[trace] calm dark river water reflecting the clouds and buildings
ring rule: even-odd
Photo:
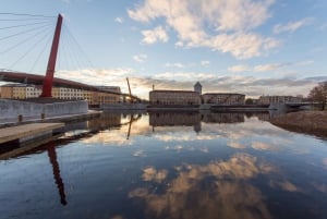
[[[107,113],[0,160],[0,218],[327,218],[327,142],[269,114]]]

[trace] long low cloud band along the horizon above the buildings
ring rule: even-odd
[[[135,76],[131,68],[107,70],[58,71],[56,77],[74,78],[81,83],[93,85],[117,85],[123,93],[129,93],[125,77],[130,78],[132,93],[148,98],[148,92],[155,85],[156,89],[193,90],[195,82],[201,82],[203,93],[240,93],[250,97],[265,95],[303,95],[319,82],[327,81],[326,76],[296,77],[254,77],[244,75],[218,75],[208,72],[167,71],[154,72],[152,76]]]

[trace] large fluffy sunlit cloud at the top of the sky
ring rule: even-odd
[[[252,32],[270,17],[272,3],[274,0],[145,0],[128,13],[137,22],[164,21],[175,31],[178,47],[206,47],[229,52],[238,59],[249,59],[280,45],[274,38]],[[149,35],[143,42],[157,41],[150,31],[142,34]]]

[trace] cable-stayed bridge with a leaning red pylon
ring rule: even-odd
[[[0,13],[0,81],[43,85],[41,97],[51,97],[52,86],[58,86],[113,94],[141,100],[131,94],[101,89],[94,85],[56,77],[56,64],[58,62],[61,68],[65,65],[74,69],[81,69],[83,62],[86,62],[88,65],[92,65],[92,63],[83,52],[75,37],[65,25],[62,25],[63,16],[61,14],[57,17],[55,34],[52,36],[53,21],[55,16]],[[66,40],[61,40],[62,33]],[[41,44],[51,41],[51,38],[52,45],[49,51],[50,56],[47,60],[46,50],[47,48],[49,49],[49,44]],[[59,47],[59,45],[61,46]],[[39,50],[38,53],[34,52],[37,48]],[[75,51],[80,53],[76,54]],[[35,71],[37,66],[44,65],[45,62],[47,62],[45,75],[27,73]],[[28,64],[31,64],[29,70],[13,70],[17,65],[27,69]]]

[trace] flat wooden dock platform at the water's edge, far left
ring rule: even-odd
[[[64,123],[33,123],[0,129],[0,144],[50,132],[64,126]]]

